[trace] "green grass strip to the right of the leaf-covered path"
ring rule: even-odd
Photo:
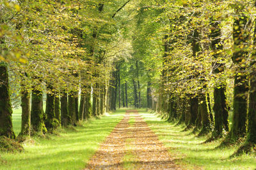
[[[170,148],[170,152],[177,164],[186,166],[186,169],[255,169],[255,155],[241,155],[241,157],[229,158],[238,146],[215,149],[221,141],[204,143],[205,137],[195,137],[195,134],[182,132],[183,126],[175,126],[173,123],[157,118],[157,114],[150,114],[140,110],[141,115],[147,121],[149,127],[159,135],[164,145]],[[208,136],[209,137],[209,136]]]

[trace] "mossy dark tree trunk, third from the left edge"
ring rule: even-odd
[[[32,134],[43,133],[44,128],[44,110],[43,110],[43,95],[42,91],[33,89],[31,102],[31,128]]]

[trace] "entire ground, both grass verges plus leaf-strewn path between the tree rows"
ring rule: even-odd
[[[21,153],[0,152],[0,169],[255,169],[256,155],[229,158],[239,146],[216,148],[184,125],[145,109],[118,109],[77,127],[59,128],[23,143]],[[13,113],[20,132],[20,109]]]

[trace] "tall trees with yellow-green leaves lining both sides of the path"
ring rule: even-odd
[[[0,135],[15,138],[17,105],[20,136],[147,107],[211,133],[205,142],[242,141],[237,154],[252,151],[255,3],[1,1]]]

